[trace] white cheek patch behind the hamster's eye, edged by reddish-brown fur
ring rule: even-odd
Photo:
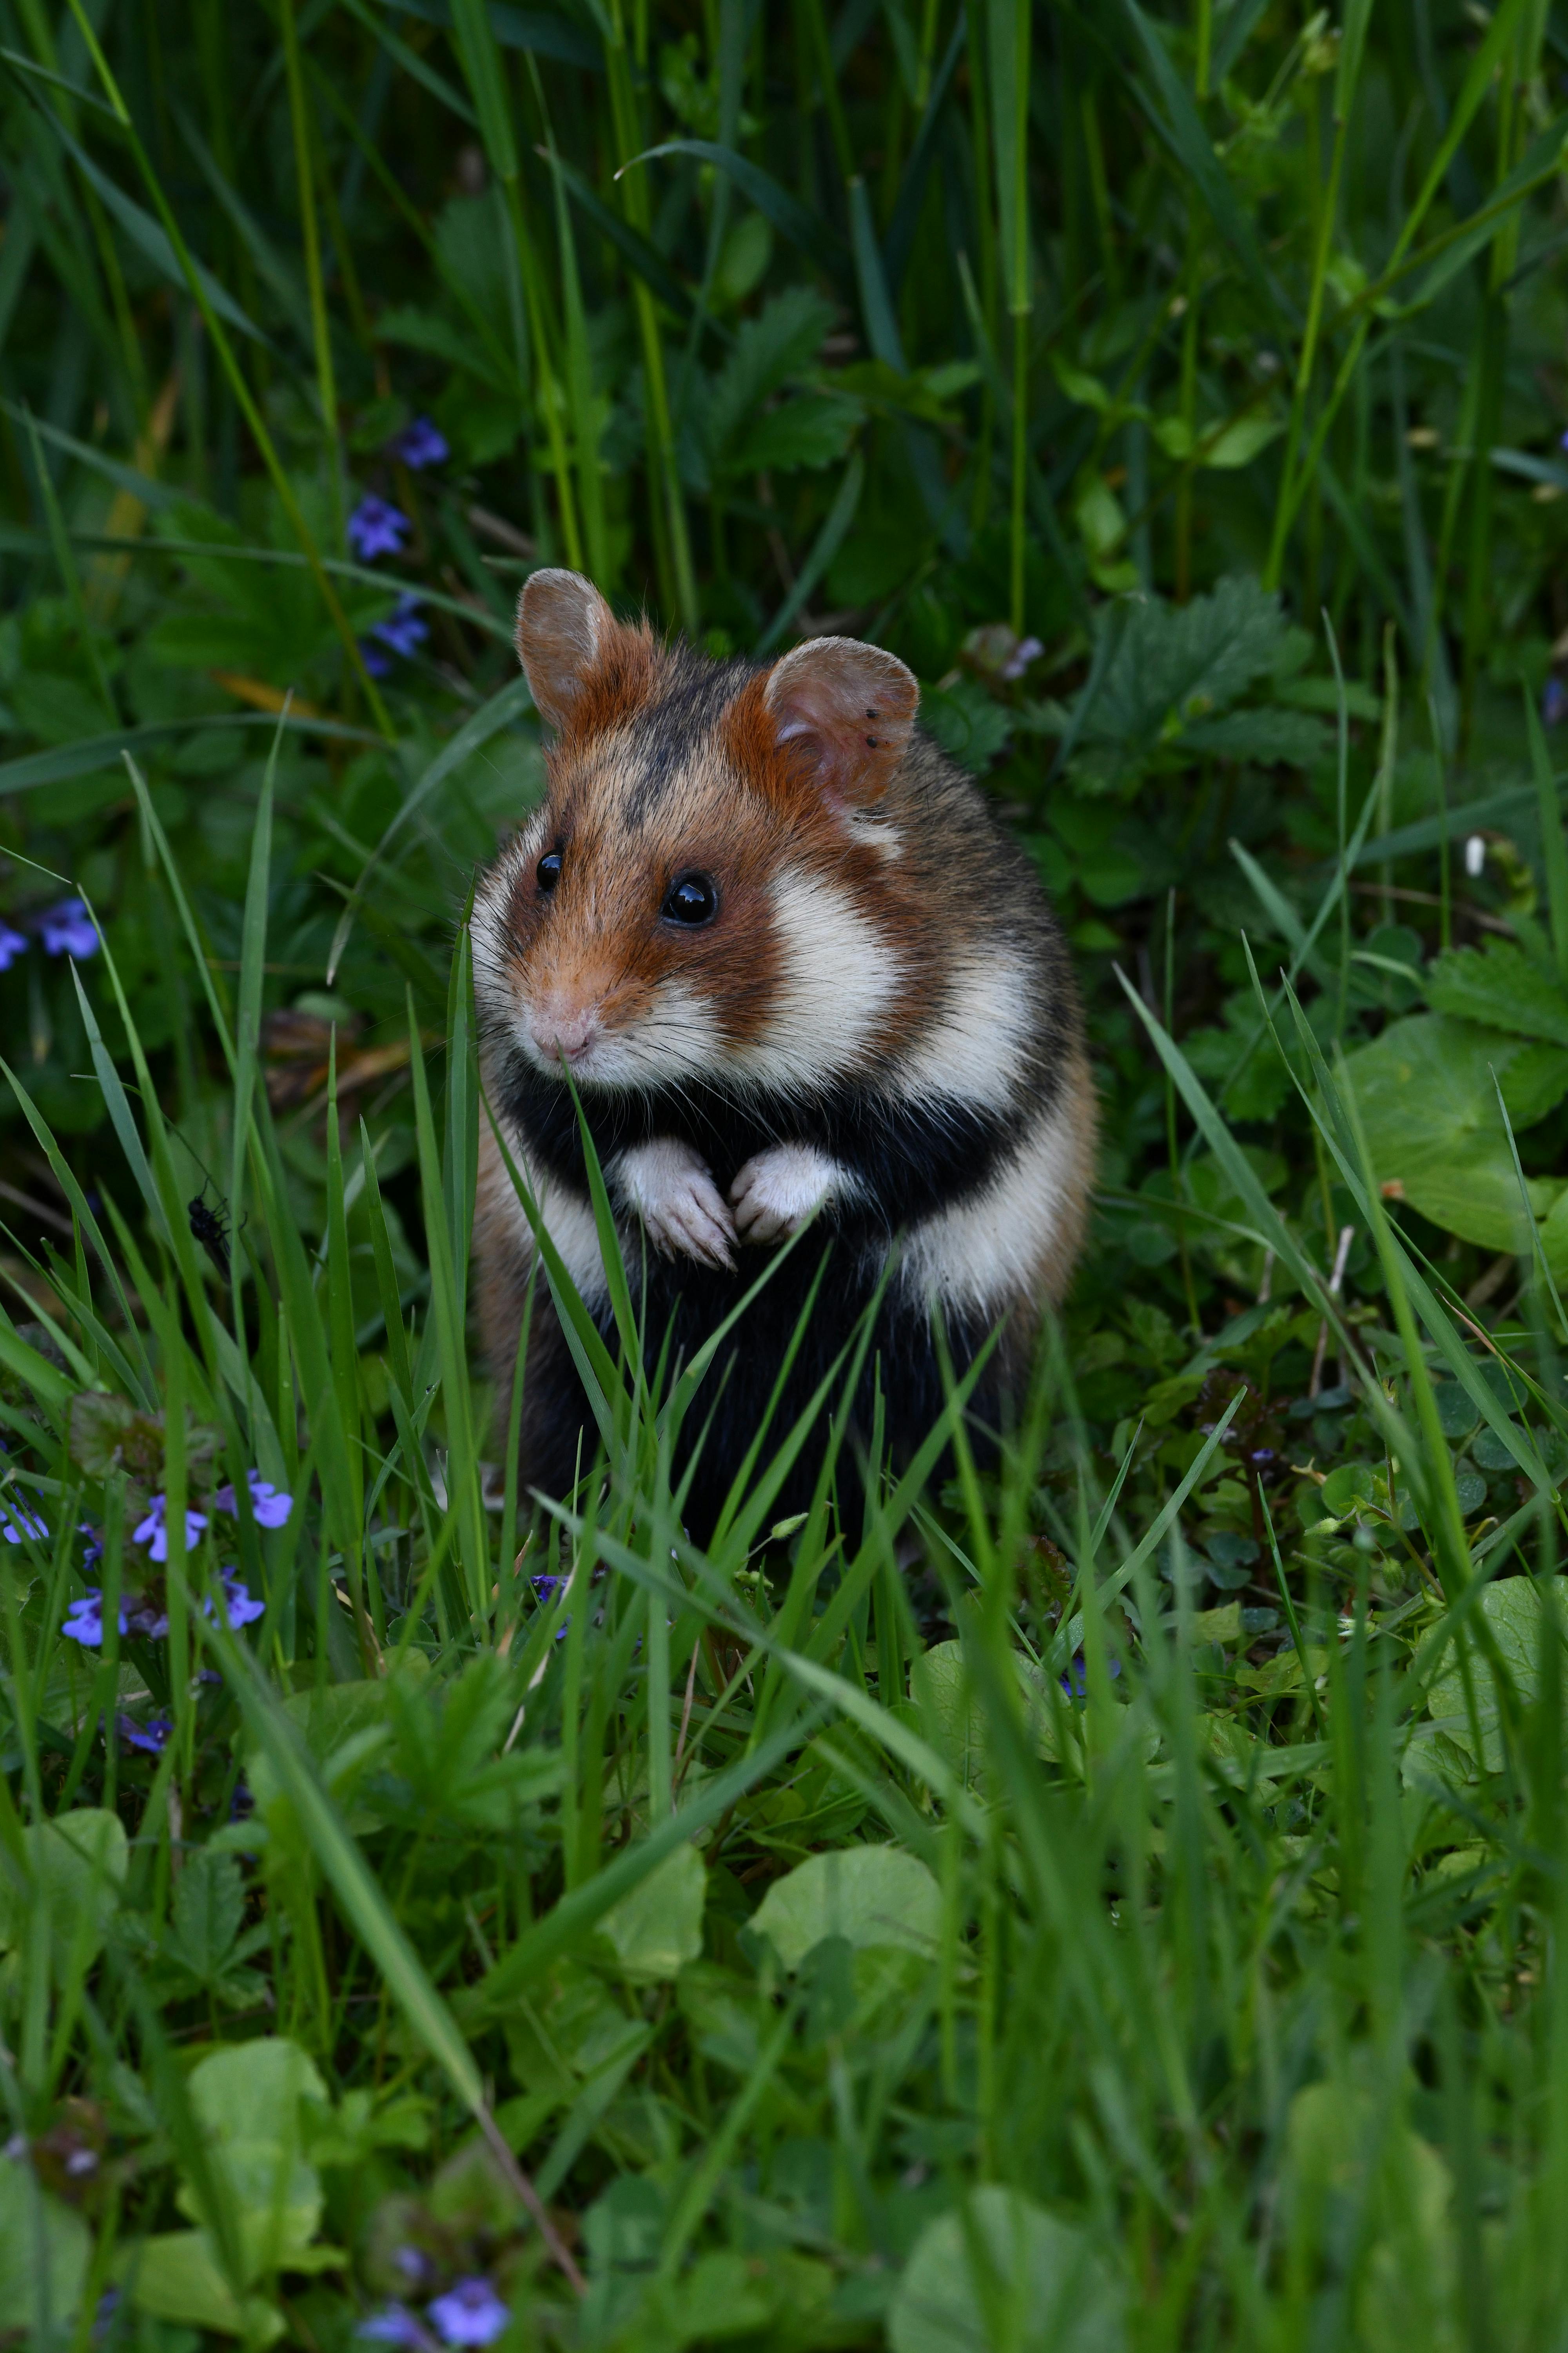
[[[900,972],[884,936],[835,882],[785,873],[769,896],[783,974],[766,1031],[733,1047],[729,1066],[764,1085],[816,1092],[823,1078],[872,1056]]]

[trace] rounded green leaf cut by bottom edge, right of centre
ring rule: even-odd
[[[1081,2231],[992,2181],[917,2238],[889,2341],[893,2353],[1119,2353],[1121,2292]]]

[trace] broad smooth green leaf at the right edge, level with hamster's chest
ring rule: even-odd
[[[1389,1200],[1408,1200],[1467,1242],[1528,1247],[1490,1073],[1514,1127],[1528,1127],[1568,1094],[1566,1047],[1526,1045],[1448,1014],[1410,1014],[1345,1068]]]

